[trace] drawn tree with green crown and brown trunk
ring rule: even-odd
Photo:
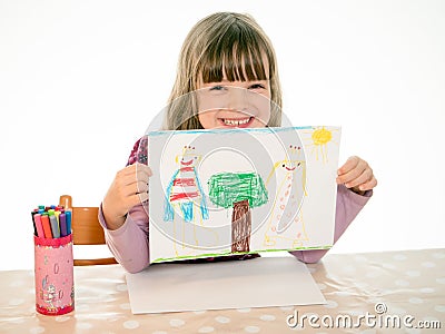
[[[210,202],[234,208],[231,215],[231,252],[249,252],[251,233],[250,208],[267,203],[263,178],[256,173],[218,173],[208,180]]]

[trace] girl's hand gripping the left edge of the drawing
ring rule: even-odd
[[[130,208],[148,200],[150,167],[136,163],[119,170],[102,200],[107,227],[117,229],[123,225]]]

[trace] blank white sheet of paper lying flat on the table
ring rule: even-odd
[[[134,314],[326,303],[306,265],[293,256],[164,263],[126,278]]]

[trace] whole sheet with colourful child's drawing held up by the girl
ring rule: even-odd
[[[150,262],[329,248],[338,167],[332,144],[339,134],[336,127],[149,132]]]

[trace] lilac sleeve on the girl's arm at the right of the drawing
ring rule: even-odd
[[[344,185],[337,186],[334,244],[363,209],[370,196],[373,196],[373,190],[367,190],[364,195],[358,195]],[[290,254],[304,263],[316,263],[320,261],[328,250],[329,249],[294,250],[290,252]]]

